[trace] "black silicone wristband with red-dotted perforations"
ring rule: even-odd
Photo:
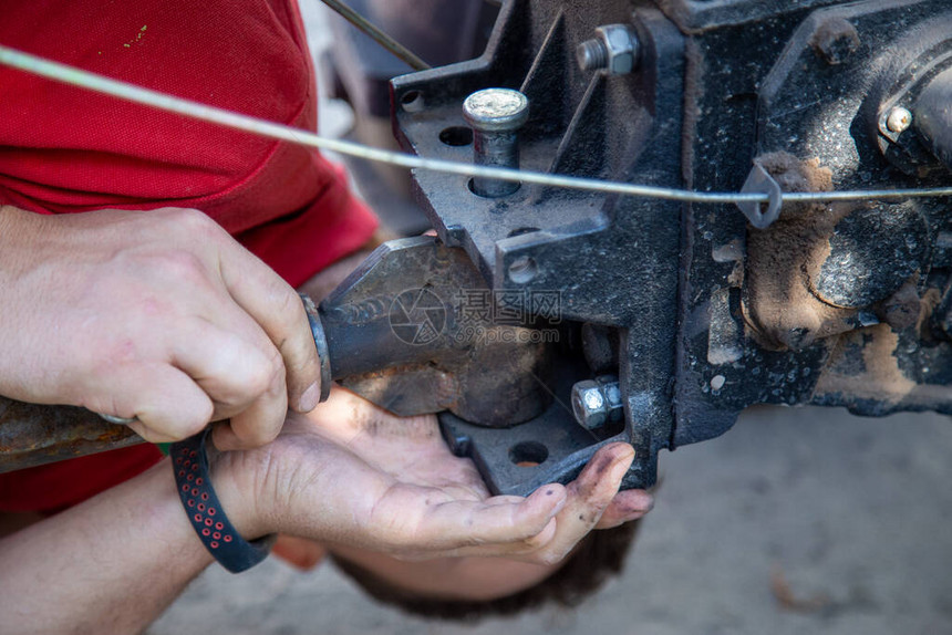
[[[275,537],[248,542],[228,521],[208,475],[205,439],[209,433],[210,428],[172,445],[169,456],[175,485],[185,513],[205,549],[221,566],[231,573],[240,573],[268,558]]]

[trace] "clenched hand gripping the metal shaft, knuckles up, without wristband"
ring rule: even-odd
[[[155,443],[230,417],[221,448],[318,403],[300,298],[199,211],[0,208],[0,289],[4,396],[136,417]]]

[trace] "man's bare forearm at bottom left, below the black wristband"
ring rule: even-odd
[[[137,633],[210,562],[168,460],[0,540],[3,633]]]

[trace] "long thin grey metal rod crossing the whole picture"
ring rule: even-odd
[[[405,153],[396,153],[373,148],[352,142],[321,137],[307,131],[293,128],[282,124],[276,124],[267,119],[260,119],[248,115],[232,113],[199,102],[183,100],[166,95],[157,91],[143,89],[134,84],[112,80],[103,75],[90,73],[74,66],[52,62],[43,58],[23,53],[15,49],[0,45],[0,64],[12,66],[34,75],[40,75],[91,90],[97,93],[112,95],[114,97],[135,102],[158,110],[178,113],[187,117],[215,123],[226,127],[266,136],[269,138],[287,140],[303,146],[315,147],[330,152],[340,153],[366,160],[386,163],[412,169],[428,169],[461,176],[482,177],[500,180],[515,180],[546,187],[558,187],[567,189],[579,189],[586,191],[599,191],[604,194],[618,194],[641,198],[656,198],[668,200],[680,200],[684,202],[699,204],[736,204],[743,201],[768,202],[765,192],[711,192],[674,189],[666,187],[654,187],[629,183],[617,183],[593,178],[581,178],[573,176],[561,176],[538,171],[522,171],[508,168],[490,168],[472,164],[447,162],[441,159],[428,159]],[[862,191],[816,191],[816,192],[785,192],[784,201],[832,201],[832,200],[901,200],[907,198],[950,197],[952,187],[929,189],[880,189]]]

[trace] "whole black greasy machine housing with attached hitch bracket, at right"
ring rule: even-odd
[[[509,1],[482,58],[393,81],[395,129],[422,156],[465,159],[468,148],[441,144],[439,133],[461,125],[467,95],[509,86],[542,113],[521,133],[525,169],[701,191],[737,190],[751,177],[745,191],[758,196],[737,201],[742,216],[726,204],[642,206],[530,181],[504,202],[473,196],[459,177],[414,174],[441,238],[493,289],[560,290],[562,318],[580,334],[567,354],[590,363],[581,381],[619,377],[617,438],[637,448],[629,483],[653,482],[659,450],[723,434],[751,404],[952,410],[949,337],[930,331],[952,279],[952,219],[939,201],[836,194],[948,186],[948,171],[892,169],[881,144],[897,140],[879,129],[891,108],[914,103],[920,89],[902,93],[910,82],[924,86],[943,70],[945,11],[941,0]],[[633,73],[589,72],[606,56],[579,42],[603,24],[638,34]],[[929,45],[915,48],[923,33]],[[897,80],[911,61],[920,75]],[[400,107],[410,93],[425,96],[423,111]],[[906,140],[915,125],[887,133]],[[878,395],[842,381],[859,375]],[[571,386],[555,393],[571,402]],[[465,424],[447,420],[454,438]],[[474,426],[455,447],[482,457],[494,481],[511,471],[507,439],[545,444],[538,420]],[[550,460],[528,469],[567,473]]]

